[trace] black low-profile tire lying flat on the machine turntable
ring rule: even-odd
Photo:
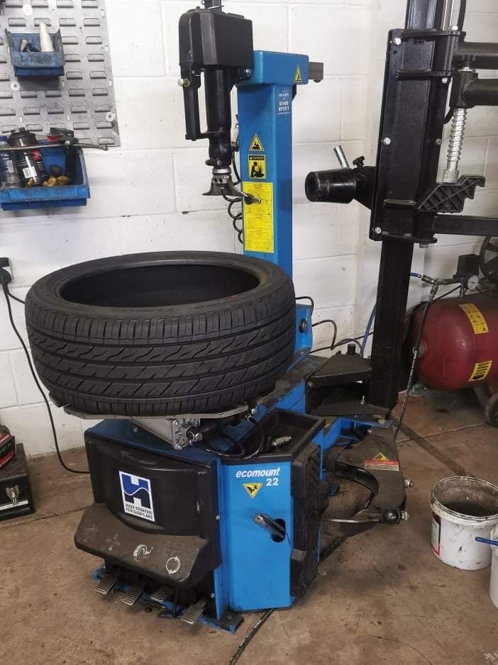
[[[214,411],[272,389],[294,352],[294,286],[216,252],[98,259],[26,296],[35,367],[57,403],[98,415]]]

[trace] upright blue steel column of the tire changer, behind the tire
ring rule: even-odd
[[[308,80],[306,55],[255,51],[253,74],[238,86],[242,181],[273,184],[274,251],[244,249],[244,253],[276,263],[289,276],[292,276],[292,97],[294,85],[307,84]],[[255,136],[263,150],[251,150]],[[249,156],[253,154],[265,156],[265,179],[250,177]]]

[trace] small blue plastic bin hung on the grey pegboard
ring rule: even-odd
[[[60,30],[50,35],[54,45],[53,53],[31,53],[19,50],[22,39],[26,39],[36,48],[40,48],[40,35],[38,33],[11,33],[5,31],[9,48],[11,50],[11,61],[16,77],[59,77],[64,76],[64,47]]]

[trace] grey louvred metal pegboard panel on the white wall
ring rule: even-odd
[[[5,30],[61,31],[65,75],[17,79]],[[0,0],[0,127],[74,130],[82,143],[119,145],[104,0]]]

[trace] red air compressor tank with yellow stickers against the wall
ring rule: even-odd
[[[414,313],[412,342],[419,333],[422,309]],[[498,298],[477,295],[433,303],[416,370],[436,390],[498,381]]]

